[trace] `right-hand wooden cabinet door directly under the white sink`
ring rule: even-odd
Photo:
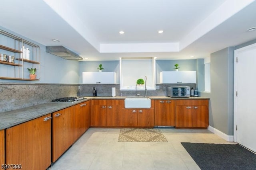
[[[154,109],[138,109],[137,111],[139,127],[154,126]]]

